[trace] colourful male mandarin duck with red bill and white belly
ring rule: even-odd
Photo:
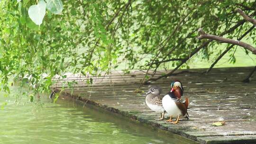
[[[177,81],[176,81],[177,82]],[[189,118],[187,108],[189,105],[189,99],[186,98],[184,102],[178,99],[183,94],[182,85],[174,82],[172,90],[165,95],[162,99],[163,107],[165,111],[170,115],[170,119],[165,122],[171,122],[177,124],[179,122],[180,117]],[[181,82],[178,82],[181,84]],[[176,121],[172,121],[172,117],[177,117]]]

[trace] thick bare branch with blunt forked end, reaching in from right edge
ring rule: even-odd
[[[222,43],[239,45],[239,46],[242,46],[242,47],[246,48],[247,50],[251,51],[253,54],[256,54],[256,48],[247,44],[247,43],[244,43],[244,42],[241,42],[241,41],[238,41],[238,40],[234,40],[234,39],[230,39],[230,38],[224,38],[224,37],[220,37],[220,36],[206,34],[202,30],[202,28],[198,29],[198,33],[200,34],[200,36],[197,37],[199,40],[201,40],[201,39],[211,39],[211,40],[216,40],[216,41],[222,42]]]

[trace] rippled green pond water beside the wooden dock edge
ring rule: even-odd
[[[72,100],[42,107],[12,96],[0,96],[0,144],[188,144],[174,135],[156,132]]]

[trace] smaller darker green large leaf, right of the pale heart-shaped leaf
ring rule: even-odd
[[[54,14],[61,14],[63,4],[61,0],[46,0],[46,8]]]

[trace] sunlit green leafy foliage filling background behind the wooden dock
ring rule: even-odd
[[[152,61],[185,58],[204,42],[196,39],[199,27],[219,35],[243,19],[235,9],[248,15],[256,10],[255,0],[65,0],[62,14],[46,11],[39,29],[27,15],[35,3],[0,0],[1,90],[9,91],[9,79],[44,92],[56,74],[60,79],[66,72],[98,75],[124,64],[126,71],[148,69],[146,65]],[[243,23],[224,37],[237,39],[251,26]],[[255,44],[255,30],[247,38]],[[223,49],[216,55],[220,45]],[[197,55],[209,61],[224,46],[227,44],[211,42]],[[235,50],[230,50],[231,63],[236,61]]]

